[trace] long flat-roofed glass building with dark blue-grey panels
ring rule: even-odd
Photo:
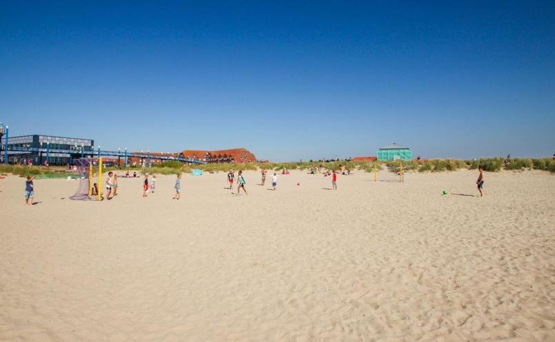
[[[3,144],[6,144],[6,137],[2,138]],[[81,157],[81,149],[84,154],[89,154],[93,150],[94,140],[81,139],[78,137],[56,137],[52,135],[21,135],[19,137],[8,138],[8,148],[13,147],[35,147],[46,149],[48,146],[48,164],[50,165],[66,165],[70,163],[72,158]],[[58,153],[55,150],[70,150],[75,153]],[[8,162],[12,164],[26,162],[33,164],[43,164],[46,161],[46,152],[34,151],[10,151],[8,150]]]

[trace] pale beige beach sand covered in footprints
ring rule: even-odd
[[[35,180],[30,207],[8,176],[0,340],[555,341],[555,176],[485,176],[184,175],[180,201],[120,178],[103,202]]]

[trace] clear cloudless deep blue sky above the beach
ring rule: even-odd
[[[2,1],[0,121],[259,159],[555,153],[555,1]]]

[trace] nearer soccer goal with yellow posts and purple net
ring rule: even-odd
[[[70,196],[71,200],[103,200],[102,197],[102,158],[95,165],[91,158],[75,160],[77,173],[80,175],[79,187]]]

